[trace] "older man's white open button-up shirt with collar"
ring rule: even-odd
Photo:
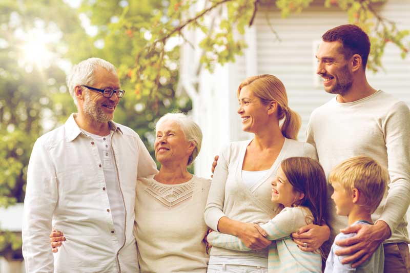
[[[114,122],[110,127],[126,210],[124,246],[113,233],[97,146],[71,115],[62,127],[38,138],[31,154],[22,230],[28,272],[139,271],[132,233],[136,178],[155,174],[156,165],[133,130]],[[67,238],[54,259],[48,238],[52,227]]]

